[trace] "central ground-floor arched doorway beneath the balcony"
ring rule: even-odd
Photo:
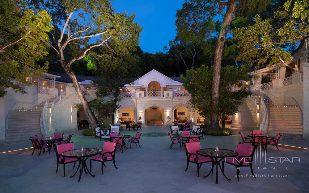
[[[164,125],[164,110],[161,107],[149,107],[145,110],[146,125]]]

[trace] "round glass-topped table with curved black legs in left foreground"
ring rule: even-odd
[[[77,158],[78,159],[79,164],[78,164],[77,170],[75,171],[74,175],[78,172],[78,169],[80,167],[79,178],[77,180],[79,182],[83,171],[86,174],[89,173],[92,177],[95,177],[95,175],[92,175],[90,173],[90,171],[88,170],[88,167],[86,165],[86,160],[88,158],[90,158],[90,156],[97,155],[97,154],[101,153],[101,151],[102,150],[97,149],[97,148],[85,148],[83,151],[82,151],[82,149],[65,151],[61,155],[63,157],[67,157],[67,158]],[[71,175],[70,178],[73,178],[74,175]]]

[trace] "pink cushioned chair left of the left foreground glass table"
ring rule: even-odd
[[[56,146],[56,156],[57,156],[57,169],[56,173],[58,172],[58,166],[59,163],[63,164],[63,176],[66,177],[66,164],[68,163],[74,163],[73,169],[75,167],[75,162],[78,162],[78,159],[76,158],[66,158],[63,157],[61,154],[65,151],[74,150],[74,144],[73,143],[64,143],[59,144]]]

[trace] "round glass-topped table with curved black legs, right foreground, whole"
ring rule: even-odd
[[[219,168],[220,168],[223,176],[228,181],[231,181],[231,179],[227,178],[226,175],[224,174],[222,167],[220,165],[220,162],[224,158],[234,158],[234,157],[236,157],[238,155],[238,153],[236,151],[228,150],[228,149],[219,149],[218,153],[216,153],[214,148],[206,148],[206,149],[197,150],[196,153],[198,155],[201,155],[201,156],[209,157],[213,162],[209,174],[204,176],[204,178],[207,178],[207,176],[209,176],[211,172],[214,173],[214,165],[216,165],[216,183],[218,184],[218,165],[219,165]]]

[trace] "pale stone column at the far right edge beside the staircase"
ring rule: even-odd
[[[309,63],[303,64],[303,137],[309,138]]]

